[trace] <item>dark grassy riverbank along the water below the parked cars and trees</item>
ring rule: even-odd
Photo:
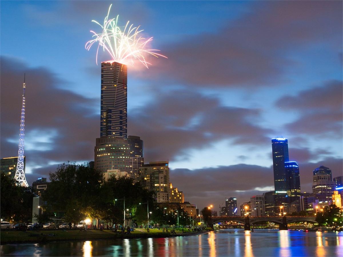
[[[197,234],[182,229],[175,229],[176,236]],[[20,244],[20,243],[46,243],[59,241],[94,241],[94,240],[111,240],[119,238],[146,238],[146,237],[169,237],[170,231],[163,232],[158,229],[150,229],[147,233],[146,229],[135,229],[130,234],[114,233],[111,230],[40,230],[40,231],[1,231],[0,244]]]

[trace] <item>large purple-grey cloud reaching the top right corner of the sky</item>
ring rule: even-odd
[[[165,83],[193,87],[280,85],[290,79],[287,70],[304,69],[294,56],[310,57],[312,46],[324,44],[334,54],[341,52],[341,10],[337,1],[259,1],[218,32],[161,47],[168,61],[155,60],[151,69],[163,73]]]

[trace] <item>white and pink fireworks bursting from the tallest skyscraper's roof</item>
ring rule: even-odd
[[[103,31],[102,33],[97,34],[91,30],[91,32],[94,33],[93,37],[95,38],[88,41],[85,46],[85,48],[89,50],[95,42],[99,42],[96,51],[96,63],[98,63],[98,51],[100,47],[102,47],[104,51],[106,50],[114,61],[130,64],[132,66],[135,62],[139,61],[148,68],[148,64],[151,63],[146,61],[146,54],[152,54],[155,57],[165,57],[162,54],[156,53],[156,51],[159,50],[145,49],[147,44],[152,41],[152,37],[149,39],[141,37],[140,33],[143,30],[139,30],[140,26],[133,27],[133,24],[129,26],[129,22],[127,22],[124,29],[121,30],[117,25],[119,15],[114,19],[108,20],[111,6],[112,4],[108,9],[104,25],[101,25],[97,21],[92,21],[101,26]]]

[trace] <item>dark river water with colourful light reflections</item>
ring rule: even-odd
[[[343,232],[240,229],[193,236],[1,245],[0,256],[343,256]]]

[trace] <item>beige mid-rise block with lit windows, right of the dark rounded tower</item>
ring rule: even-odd
[[[143,164],[139,180],[143,188],[153,191],[157,203],[169,202],[169,167],[167,161],[151,161]]]

